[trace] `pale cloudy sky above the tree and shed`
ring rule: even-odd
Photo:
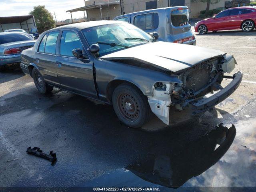
[[[45,5],[52,16],[55,12],[57,21],[61,21],[71,19],[66,10],[84,6],[84,0],[0,0],[0,17],[28,15],[37,5]],[[82,18],[84,12],[74,12],[72,16]]]

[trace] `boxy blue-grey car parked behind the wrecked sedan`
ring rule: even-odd
[[[118,16],[114,20],[128,22],[147,33],[158,32],[160,41],[196,45],[187,6],[134,12]]]

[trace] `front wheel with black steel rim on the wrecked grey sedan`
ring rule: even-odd
[[[119,120],[129,127],[139,128],[150,119],[148,99],[136,86],[121,84],[116,87],[112,103]]]

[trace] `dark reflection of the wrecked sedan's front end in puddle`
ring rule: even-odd
[[[235,135],[234,125],[229,129],[219,126],[199,140],[178,146],[176,151],[150,154],[126,169],[146,181],[178,188],[218,162],[231,146]]]

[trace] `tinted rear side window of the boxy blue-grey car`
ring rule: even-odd
[[[150,30],[153,26],[152,14],[138,15],[134,18],[134,25],[142,30]]]

